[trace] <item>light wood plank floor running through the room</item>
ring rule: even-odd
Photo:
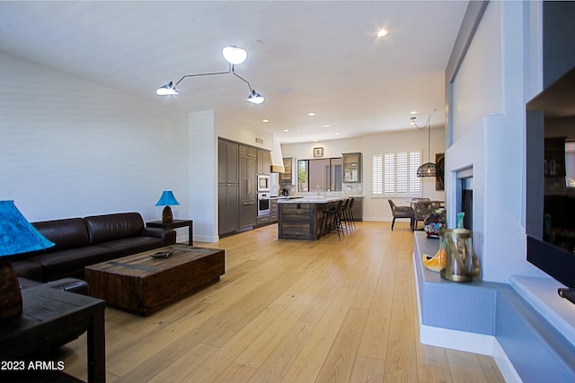
[[[408,222],[316,242],[271,225],[226,249],[221,281],[139,318],[106,309],[109,382],[502,382],[491,357],[420,344]],[[65,372],[85,376],[85,335]]]

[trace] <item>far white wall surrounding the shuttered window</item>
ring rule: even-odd
[[[407,121],[409,123],[409,121]],[[433,121],[432,121],[433,122]],[[430,161],[435,161],[435,153],[444,152],[445,137],[442,128],[431,129],[430,134]],[[342,152],[361,152],[363,154],[362,185],[358,193],[349,193],[364,196],[363,213],[365,221],[392,221],[392,213],[387,202],[388,197],[371,196],[371,155],[381,152],[421,151],[422,160],[428,161],[428,133],[427,130],[413,128],[409,131],[367,135],[365,137],[325,141],[321,143],[282,144],[284,157],[293,157],[296,160],[313,159],[314,147],[323,147],[323,157],[341,157]],[[436,191],[435,178],[421,178],[422,196],[429,196],[434,200],[444,200],[445,192]],[[351,184],[349,184],[351,185]],[[356,189],[357,190],[357,189]],[[344,190],[345,191],[345,190]],[[392,197],[396,205],[408,205],[407,197]]]

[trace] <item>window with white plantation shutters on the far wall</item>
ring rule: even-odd
[[[372,154],[373,196],[420,196],[421,152]]]

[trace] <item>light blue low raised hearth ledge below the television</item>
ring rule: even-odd
[[[438,247],[438,239],[414,232],[422,325],[493,336],[524,382],[575,382],[575,344],[508,283],[455,283],[426,269],[422,254]]]

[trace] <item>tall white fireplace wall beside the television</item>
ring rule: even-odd
[[[526,262],[525,103],[535,77],[532,14],[523,2],[490,2],[456,74],[454,144],[446,153],[448,219],[456,201],[455,172],[473,166],[473,244],[482,279],[539,274]],[[469,107],[473,106],[474,110]],[[494,112],[498,112],[494,114]]]

